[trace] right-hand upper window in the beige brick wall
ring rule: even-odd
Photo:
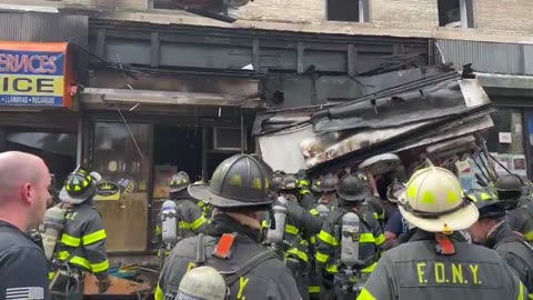
[[[473,28],[473,0],[438,0],[439,26]]]

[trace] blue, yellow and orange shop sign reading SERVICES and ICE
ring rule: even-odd
[[[72,108],[69,44],[0,41],[0,107]]]

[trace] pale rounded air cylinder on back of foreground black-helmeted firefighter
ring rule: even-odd
[[[211,267],[198,267],[185,273],[175,300],[225,300],[228,293],[219,271]]]

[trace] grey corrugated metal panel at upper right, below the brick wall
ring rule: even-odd
[[[438,40],[438,44],[445,61],[459,70],[472,62],[472,68],[481,72],[524,73],[521,44],[464,40]]]

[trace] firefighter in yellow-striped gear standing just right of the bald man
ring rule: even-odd
[[[111,284],[105,253],[107,234],[102,218],[93,207],[100,179],[100,174],[78,167],[69,174],[59,193],[61,203],[52,208],[64,211],[61,238],[49,274],[56,299],[82,299],[87,273],[97,277],[100,293]]]

